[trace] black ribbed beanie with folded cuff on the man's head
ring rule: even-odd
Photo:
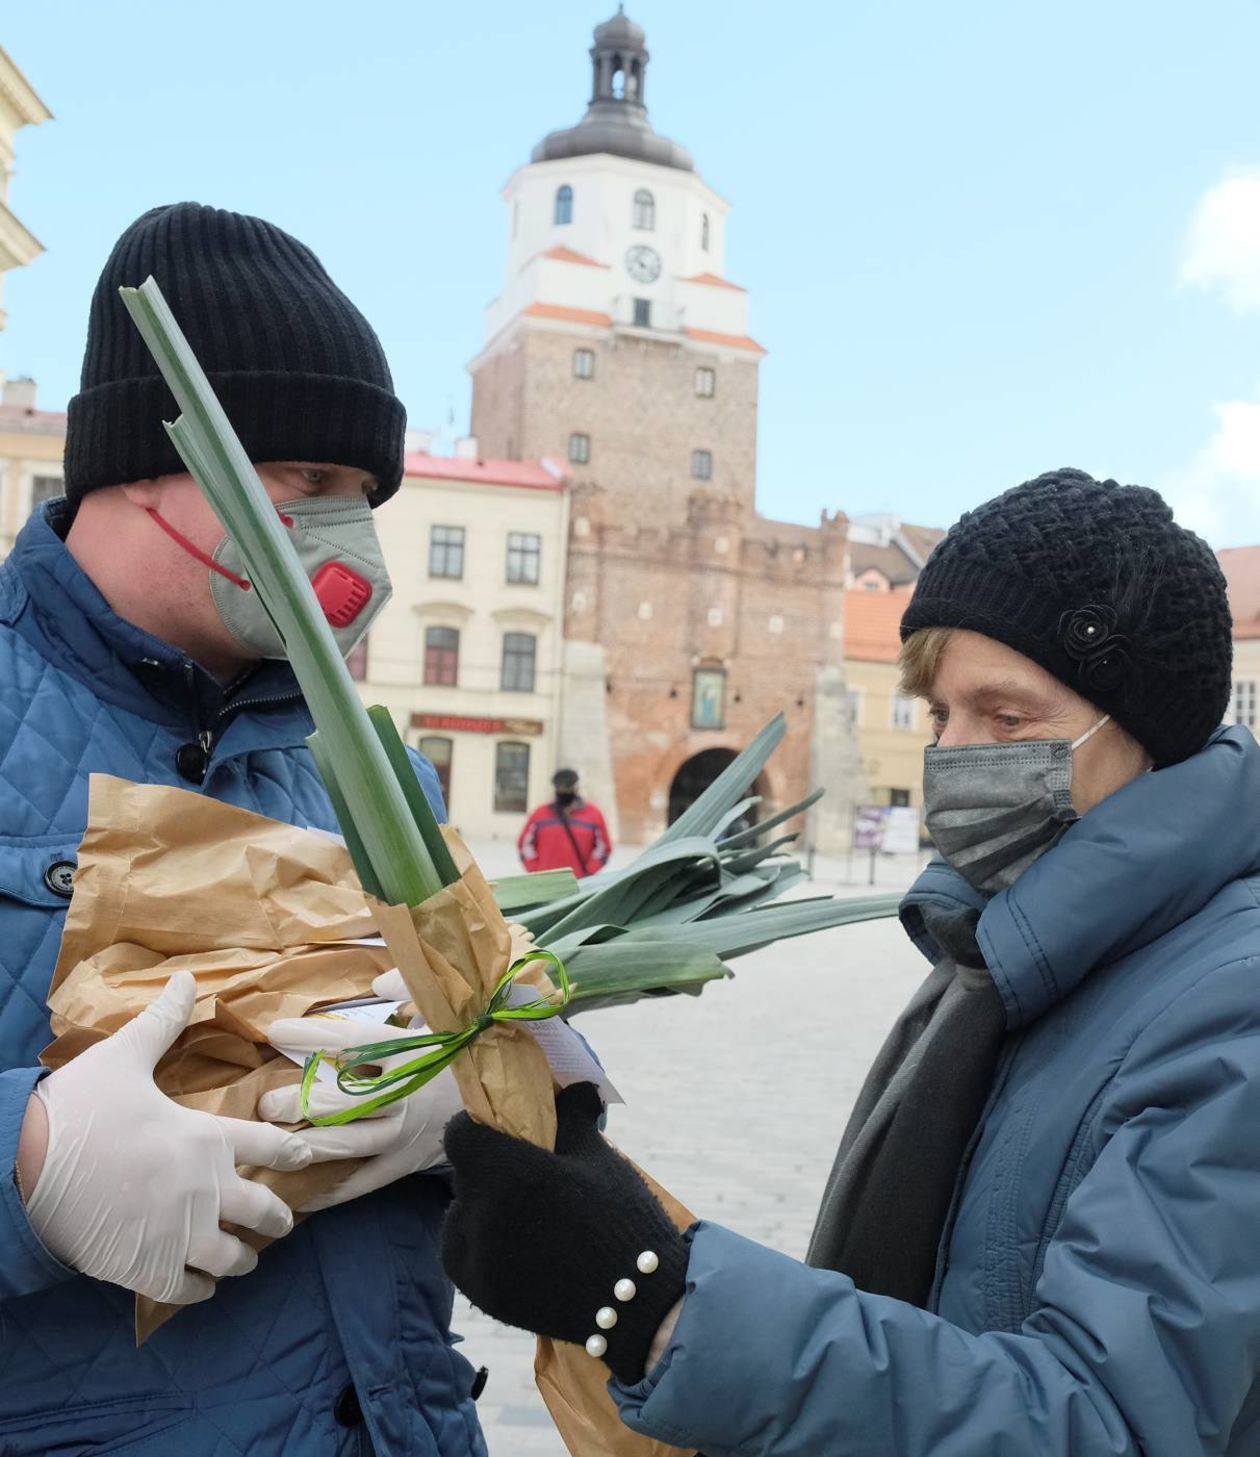
[[[200,203],[154,207],[114,245],[66,421],[66,494],[185,471],[162,428],[178,407],[118,288],[153,275],[251,460],[402,479],[406,412],[371,326],[296,237]]]

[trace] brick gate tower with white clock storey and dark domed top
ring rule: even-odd
[[[479,447],[571,472],[561,758],[642,841],[782,708],[757,790],[826,784],[810,833],[838,848],[861,791],[846,522],[757,513],[765,351],[725,277],[728,204],[648,124],[644,32],[618,13],[590,55],[586,115],[504,188],[505,283],[470,364]]]

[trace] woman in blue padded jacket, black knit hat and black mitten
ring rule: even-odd
[[[1218,565],[1060,471],[963,516],[902,637],[932,970],[808,1263],[676,1233],[577,1088],[555,1154],[452,1123],[447,1269],[706,1457],[1260,1453],[1260,747],[1218,727]]]

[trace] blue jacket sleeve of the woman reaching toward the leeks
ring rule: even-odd
[[[1130,1048],[1021,1330],[974,1335],[701,1224],[664,1358],[613,1386],[622,1419],[706,1457],[1250,1450],[1231,1441],[1257,1435],[1257,975],[1210,972]]]

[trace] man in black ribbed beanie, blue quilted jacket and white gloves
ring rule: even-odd
[[[405,417],[371,328],[269,223],[147,213],[92,302],[67,498],[0,568],[0,1451],[482,1457],[437,1257],[447,1185],[425,1173],[449,1085],[304,1134],[178,1107],[151,1071],[186,978],[38,1067],[89,774],[336,828],[284,644],[162,428],[173,402],[118,299],[150,274],[345,651],[389,596],[373,508],[399,487]],[[236,1171],[345,1155],[361,1161],[297,1228]],[[259,1259],[237,1231],[275,1243]],[[134,1292],[191,1308],[137,1349]]]

